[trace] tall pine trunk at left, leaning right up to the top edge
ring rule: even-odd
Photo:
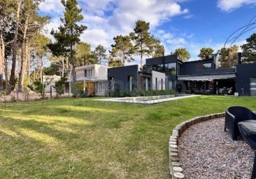
[[[16,57],[17,57],[17,39],[19,34],[19,12],[21,10],[21,3],[23,0],[19,0],[19,4],[17,7],[17,17],[15,24],[15,37],[13,39],[12,44],[12,70],[10,72],[10,85],[11,89],[15,88],[15,67],[16,67]]]

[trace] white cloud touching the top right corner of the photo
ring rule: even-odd
[[[230,12],[244,5],[256,5],[256,0],[219,0],[217,7],[223,11]]]

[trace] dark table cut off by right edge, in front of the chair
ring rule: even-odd
[[[238,123],[241,137],[255,150],[253,172],[251,179],[256,178],[256,120],[244,120]]]

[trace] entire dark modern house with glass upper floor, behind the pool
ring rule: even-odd
[[[256,63],[217,68],[210,59],[183,62],[175,54],[146,59],[145,70],[138,65],[109,68],[111,90],[172,89],[179,93],[234,94],[256,96]]]

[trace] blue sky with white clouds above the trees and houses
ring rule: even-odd
[[[256,0],[78,0],[78,6],[84,16],[80,23],[87,26],[80,39],[92,49],[103,45],[111,50],[114,36],[128,35],[136,21],[143,20],[165,46],[165,55],[186,48],[190,61],[199,60],[201,48],[212,48],[216,53],[230,34],[256,16]],[[60,0],[45,0],[39,5],[39,14],[51,16],[44,32],[51,39],[49,32],[60,26],[63,12]],[[235,44],[244,44],[254,32],[256,28],[241,35]],[[136,58],[126,65],[139,63]]]

